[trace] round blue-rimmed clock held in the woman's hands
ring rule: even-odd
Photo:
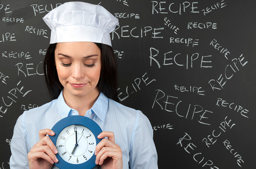
[[[54,136],[50,136],[58,149],[55,165],[59,168],[93,168],[96,166],[95,148],[102,140],[97,136],[101,127],[92,119],[72,115],[59,120],[53,127]]]

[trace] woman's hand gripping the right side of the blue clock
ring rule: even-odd
[[[104,137],[108,137],[108,139]],[[100,164],[102,169],[123,168],[122,150],[115,143],[114,132],[103,131],[98,135],[98,138],[103,138],[95,148],[96,164]]]

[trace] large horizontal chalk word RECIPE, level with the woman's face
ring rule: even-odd
[[[159,53],[159,50],[157,50],[154,47],[150,47],[150,66],[152,66],[152,60],[156,62],[156,64],[158,65],[158,68],[160,68],[160,63],[158,62],[158,60],[156,59],[155,56],[157,56]],[[176,53],[173,54],[173,51],[168,51],[166,53],[163,54],[163,64],[162,65],[172,65],[172,64],[176,64],[178,66],[186,66],[186,69],[192,68],[193,67],[193,61],[197,60],[200,56],[199,53],[193,53],[191,56],[189,54],[185,54],[186,55],[186,62],[182,62],[184,60],[184,56],[182,56],[182,53]],[[211,63],[211,60],[205,60],[206,57],[211,57],[212,55],[206,55],[206,56],[201,56],[201,59],[199,61],[199,66],[200,68],[211,68],[212,65],[210,65],[209,63]],[[181,58],[179,58],[181,57]],[[182,61],[181,61],[182,60]],[[190,64],[190,65],[189,65]]]

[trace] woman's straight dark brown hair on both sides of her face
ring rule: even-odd
[[[49,45],[44,58],[44,77],[51,99],[58,98],[61,90],[63,89],[55,66],[54,51],[56,44],[57,43]],[[101,75],[97,86],[107,97],[118,101],[117,62],[114,50],[107,44],[95,44],[101,49]]]

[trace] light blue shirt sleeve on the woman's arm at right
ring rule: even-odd
[[[158,168],[153,130],[148,118],[137,110],[130,143],[130,168]]]

